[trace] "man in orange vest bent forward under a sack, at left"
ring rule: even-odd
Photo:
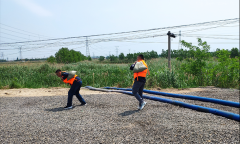
[[[73,72],[75,72],[75,71],[73,71]],[[82,86],[82,80],[76,74],[68,73],[68,72],[61,71],[60,69],[58,69],[56,71],[56,75],[58,77],[60,77],[61,80],[64,83],[71,85],[71,88],[68,91],[67,106],[64,107],[64,109],[72,109],[73,108],[72,107],[73,95],[76,95],[78,100],[81,102],[81,105],[86,105],[87,104],[85,102],[85,100],[82,98],[82,96],[79,94],[79,90],[80,90],[80,88]]]

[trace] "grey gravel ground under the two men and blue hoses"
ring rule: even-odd
[[[239,101],[238,90],[190,94]],[[66,96],[0,97],[0,143],[239,143],[239,122],[221,116],[150,100],[137,111],[137,100],[124,94],[83,97],[88,105],[74,97],[72,110],[62,109]]]

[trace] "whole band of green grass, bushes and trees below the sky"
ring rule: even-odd
[[[77,75],[83,80],[83,86],[91,85],[95,87],[116,86],[131,87],[133,73],[129,67],[139,54],[143,54],[147,59],[147,64],[151,75],[147,75],[146,88],[187,88],[198,86],[217,86],[225,88],[239,88],[239,57],[231,58],[233,53],[227,50],[217,49],[210,53],[210,46],[206,42],[198,39],[198,46],[182,41],[182,45],[188,50],[173,50],[173,55],[177,58],[171,60],[172,71],[168,70],[167,59],[163,51],[162,58],[157,58],[156,52],[144,52],[127,54],[124,59],[122,54],[119,57],[108,56],[108,60],[102,59],[101,64],[93,62],[77,62],[53,67],[44,64],[37,66],[7,66],[0,67],[0,87],[9,85],[11,88],[40,88],[57,87],[66,85],[55,75],[56,69],[76,70]],[[235,50],[236,51],[236,50]],[[64,63],[73,62],[79,53],[73,50],[62,48],[56,53],[56,61]],[[210,58],[213,56],[214,58]],[[69,57],[71,56],[71,57]],[[81,55],[80,55],[81,57]],[[58,58],[58,60],[57,60]],[[66,58],[66,59],[65,59]],[[82,57],[87,59],[86,57]],[[77,59],[83,60],[81,58]],[[127,63],[127,64],[104,64],[104,63]]]

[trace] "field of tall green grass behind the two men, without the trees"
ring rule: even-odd
[[[167,59],[157,58],[148,60],[150,75],[147,76],[146,88],[188,88],[198,86],[219,86],[238,88],[239,68],[233,69],[231,81],[221,79],[221,69],[213,69],[218,62],[211,60],[203,71],[201,77],[187,74],[181,69],[184,62],[172,59],[172,71],[167,67]],[[129,64],[105,64],[97,60],[82,61],[71,64],[48,64],[46,62],[18,62],[0,64],[0,87],[1,88],[40,88],[40,87],[66,87],[55,75],[56,69],[76,70],[82,78],[83,86],[94,87],[117,86],[131,87],[133,73],[129,70]],[[229,75],[227,73],[227,75]],[[199,81],[201,80],[201,85]],[[222,80],[222,81],[221,81]],[[223,86],[221,86],[223,87]]]

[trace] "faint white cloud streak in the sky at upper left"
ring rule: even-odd
[[[33,0],[15,0],[31,12],[39,15],[39,16],[52,16],[52,13],[42,6],[35,3]]]

